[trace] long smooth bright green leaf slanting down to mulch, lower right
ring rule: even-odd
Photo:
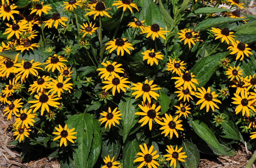
[[[216,139],[213,132],[208,128],[205,123],[195,120],[192,121],[193,129],[196,132],[197,135],[199,135],[200,138],[202,138],[206,143],[208,143],[210,146],[214,147],[221,153],[226,153],[224,149],[221,147],[220,143]]]

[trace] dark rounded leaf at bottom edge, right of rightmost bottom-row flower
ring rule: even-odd
[[[186,152],[187,158],[184,158],[185,162],[181,162],[185,168],[197,168],[200,160],[200,154],[198,149],[193,143],[184,142],[182,143],[182,152]]]

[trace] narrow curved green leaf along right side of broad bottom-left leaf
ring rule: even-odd
[[[93,119],[93,140],[90,155],[88,157],[87,168],[91,168],[96,163],[101,150],[101,128],[96,119]]]

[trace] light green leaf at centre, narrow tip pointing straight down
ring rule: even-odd
[[[121,98],[118,105],[118,109],[122,113],[121,124],[123,126],[123,141],[125,142],[131,128],[138,122],[138,116],[134,115],[135,112],[139,110],[137,104],[139,103],[134,98],[132,98],[132,92],[125,93]]]

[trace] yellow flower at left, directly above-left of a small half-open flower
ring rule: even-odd
[[[65,64],[62,63],[64,61],[68,62],[66,58],[62,57],[61,55],[57,56],[57,54],[54,54],[53,57],[48,57],[48,59],[43,64],[48,64],[45,66],[45,70],[48,68],[47,71],[51,69],[52,72],[54,72],[55,69],[60,71],[61,68],[65,67]]]

